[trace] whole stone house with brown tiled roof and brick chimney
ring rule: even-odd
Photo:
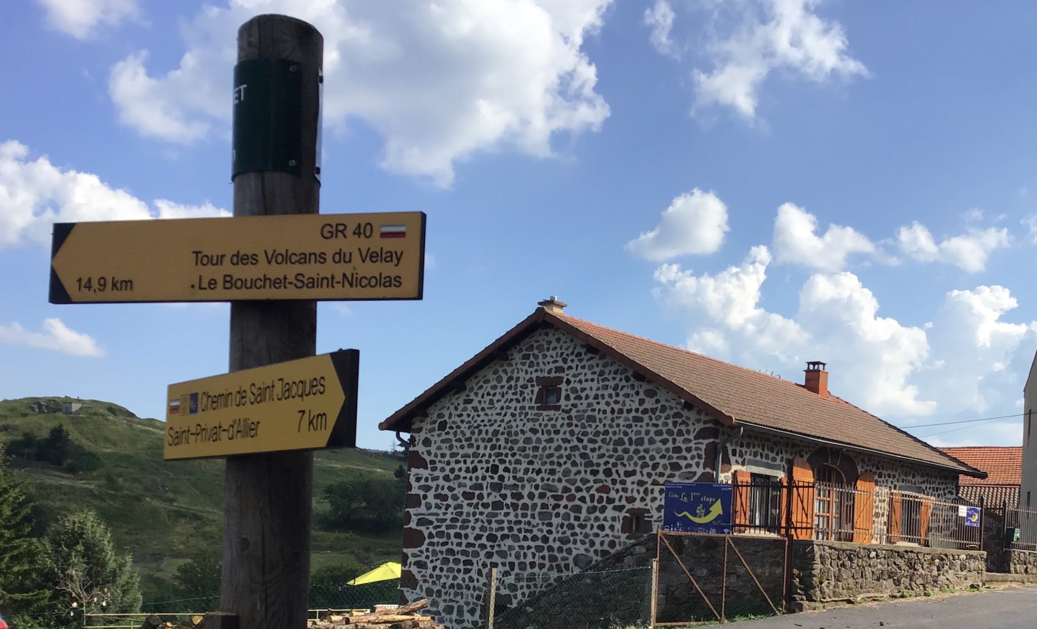
[[[667,481],[795,469],[951,497],[984,476],[830,394],[823,363],[796,383],[564,308],[540,302],[380,425],[411,434],[400,589],[448,626],[478,624],[492,566],[515,604],[654,531]]]

